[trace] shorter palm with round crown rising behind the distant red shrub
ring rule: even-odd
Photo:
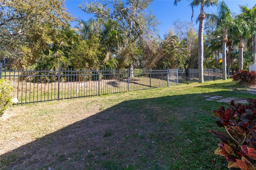
[[[233,37],[239,38],[239,53],[238,53],[238,66],[239,70],[243,69],[243,60],[244,60],[244,38],[250,37],[250,26],[248,22],[243,20],[242,18],[237,18],[234,20],[234,24],[230,27],[230,34]]]

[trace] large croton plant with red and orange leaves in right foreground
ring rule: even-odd
[[[212,110],[216,124],[222,131],[210,130],[221,139],[215,154],[226,157],[232,170],[256,169],[256,99],[247,99],[248,105],[230,103],[225,110]]]

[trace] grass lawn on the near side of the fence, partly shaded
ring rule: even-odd
[[[205,95],[255,98],[210,81],[11,107],[0,117],[0,169],[224,170]]]

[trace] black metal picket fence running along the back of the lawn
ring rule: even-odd
[[[12,82],[18,104],[25,104],[198,82],[198,69],[49,71],[0,67],[0,77]],[[220,69],[204,70],[204,81],[217,79],[222,79]]]

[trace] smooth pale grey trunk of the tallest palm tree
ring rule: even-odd
[[[204,14],[202,14],[204,15]],[[200,18],[201,19],[201,18]],[[198,30],[198,71],[199,83],[204,83],[204,19],[199,21]]]

